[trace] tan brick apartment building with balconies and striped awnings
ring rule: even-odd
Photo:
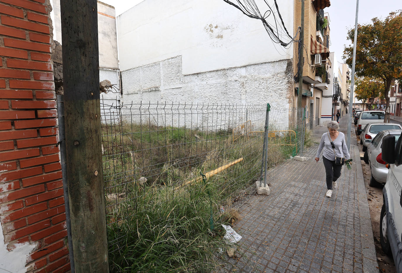
[[[324,8],[330,6],[329,0],[304,1],[304,47],[300,49],[303,54],[303,87],[302,106],[309,111],[307,123],[310,128],[319,125],[321,118],[321,104],[323,92],[328,90],[331,83],[328,68],[331,67],[330,52],[330,18],[324,13]],[[294,34],[301,24],[301,1],[294,1]],[[298,73],[299,47],[293,49],[293,72]],[[299,92],[298,80],[294,84],[295,96]],[[296,105],[294,105],[296,106]]]

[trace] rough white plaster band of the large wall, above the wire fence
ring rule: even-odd
[[[289,108],[287,98],[293,91],[291,60],[191,75],[181,73],[181,64],[181,56],[176,56],[121,72],[123,104],[270,103],[275,109]],[[122,111],[125,114],[124,108]],[[173,123],[178,126],[177,117]]]

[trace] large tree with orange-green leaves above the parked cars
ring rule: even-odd
[[[388,91],[395,79],[402,79],[402,12],[391,12],[384,21],[377,17],[372,23],[358,25],[355,74],[357,77],[381,79],[380,94],[386,99],[386,117],[389,121],[390,97]],[[355,29],[347,38],[353,43]],[[345,47],[346,63],[352,66],[353,45]]]

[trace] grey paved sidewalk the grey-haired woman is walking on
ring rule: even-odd
[[[347,116],[340,130],[346,135]],[[326,132],[317,127],[316,135]],[[355,138],[352,126],[352,138]],[[332,198],[325,197],[325,169],[314,160],[317,144],[305,152],[307,161],[283,164],[271,195],[252,196],[240,207],[234,229],[243,236],[236,255],[222,272],[378,272],[367,195],[356,141]]]

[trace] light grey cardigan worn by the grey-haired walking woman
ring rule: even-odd
[[[322,134],[320,145],[318,145],[316,157],[320,157],[321,151],[324,150],[322,155],[329,160],[335,160],[335,155],[337,157],[345,157],[346,160],[351,158],[346,146],[345,134],[343,132],[339,132],[338,137],[333,141],[335,145],[335,154],[330,142],[331,139],[328,135],[328,132]]]

